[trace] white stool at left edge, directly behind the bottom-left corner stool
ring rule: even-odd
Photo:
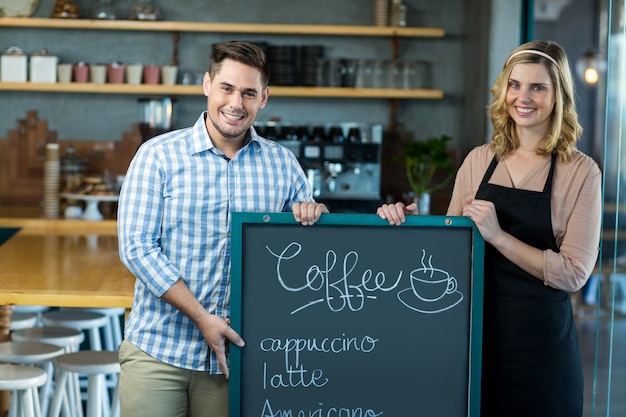
[[[65,353],[62,347],[39,342],[3,342],[0,343],[0,362],[14,365],[38,366],[46,371],[48,379],[39,388],[41,414],[48,415],[48,406],[52,394],[52,359]]]

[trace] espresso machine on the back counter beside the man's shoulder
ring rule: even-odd
[[[277,141],[300,161],[316,201],[332,212],[373,213],[381,204],[382,125],[339,123],[304,129],[270,122],[256,127],[262,135],[266,127],[270,136],[278,132]]]

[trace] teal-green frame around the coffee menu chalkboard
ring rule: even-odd
[[[243,285],[244,263],[246,261],[246,248],[244,247],[244,234],[249,226],[258,225],[290,225],[291,228],[305,227],[298,225],[292,213],[233,213],[232,216],[232,263],[231,263],[231,326],[237,332],[242,331],[243,322],[246,319],[243,310]],[[470,234],[471,240],[471,287],[468,332],[468,381],[467,381],[467,417],[479,417],[480,415],[480,374],[482,355],[482,323],[483,323],[483,263],[484,263],[484,240],[476,225],[467,217],[460,216],[408,216],[406,223],[401,226],[390,226],[377,215],[369,214],[325,214],[316,223],[325,226],[363,226],[363,227],[387,227],[387,228],[460,228]],[[314,226],[306,226],[315,228]],[[390,248],[393,250],[393,248]],[[255,314],[263,312],[255,311]],[[245,334],[242,334],[244,339]],[[244,347],[243,349],[246,349]],[[248,347],[249,348],[249,347]],[[245,380],[245,364],[242,363],[242,348],[231,344],[230,346],[230,416],[248,417],[242,414],[242,404],[246,399],[242,398],[242,384]],[[464,413],[464,411],[463,411]],[[419,414],[419,413],[418,413]],[[259,415],[258,413],[255,415]],[[286,414],[276,414],[286,415]],[[317,414],[315,414],[317,415]],[[320,414],[322,415],[322,414]],[[325,414],[324,414],[325,415]],[[365,415],[365,414],[364,414]],[[375,414],[371,414],[375,415]]]

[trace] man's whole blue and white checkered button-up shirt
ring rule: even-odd
[[[221,373],[194,323],[160,297],[182,278],[210,313],[228,317],[231,213],[290,211],[313,198],[290,150],[251,128],[228,160],[205,117],[137,151],[120,192],[118,238],[120,258],[137,278],[125,337],[170,365]]]

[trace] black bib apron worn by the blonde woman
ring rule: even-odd
[[[559,251],[550,196],[556,155],[542,192],[489,184],[493,158],[476,198],[492,201],[500,227],[538,249]],[[567,292],[543,282],[485,245],[482,417],[580,417],[583,374]]]

